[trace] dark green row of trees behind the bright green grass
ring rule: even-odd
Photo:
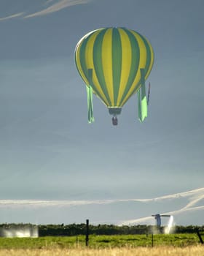
[[[82,224],[69,224],[69,225],[32,225],[32,224],[1,224],[0,228],[12,229],[12,228],[29,228],[37,227],[39,230],[39,236],[78,236],[85,235],[87,227],[85,223]],[[165,227],[159,227],[158,233],[164,233]],[[155,230],[154,225],[134,225],[134,226],[117,226],[117,225],[89,225],[90,235],[136,235],[136,234],[150,234]],[[204,233],[204,226],[175,226],[173,227],[173,233]]]

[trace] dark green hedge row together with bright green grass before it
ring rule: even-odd
[[[31,224],[2,224],[1,230],[17,230],[38,227],[39,238],[4,238],[0,237],[0,249],[66,249],[85,247],[85,224],[72,225],[31,225]],[[197,230],[204,240],[204,226],[176,226],[174,234],[159,233],[152,237],[154,226],[115,226],[115,225],[90,225],[89,247],[115,248],[115,247],[151,247],[152,238],[154,246],[197,246],[200,239]],[[1,232],[0,232],[1,234]],[[3,233],[2,233],[3,234]]]

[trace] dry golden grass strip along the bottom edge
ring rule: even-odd
[[[184,248],[160,246],[154,248],[114,248],[114,249],[1,249],[0,256],[203,256],[204,246]]]

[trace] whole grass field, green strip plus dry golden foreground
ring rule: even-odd
[[[1,255],[204,256],[196,234],[0,238]]]

